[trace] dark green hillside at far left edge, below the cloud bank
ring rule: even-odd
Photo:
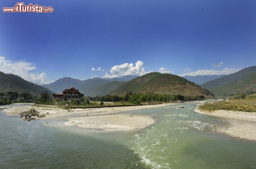
[[[18,92],[22,93],[23,91],[31,92],[32,94],[40,94],[41,92],[47,91],[50,94],[53,94],[53,91],[39,86],[37,84],[28,82],[21,78],[20,76],[13,74],[5,74],[0,71],[0,91],[1,92]]]

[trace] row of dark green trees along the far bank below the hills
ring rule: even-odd
[[[90,101],[107,101],[107,102],[118,102],[118,101],[126,101],[132,104],[140,104],[143,102],[170,102],[170,101],[194,101],[194,100],[203,100],[204,96],[191,96],[185,97],[180,94],[133,94],[132,92],[127,92],[124,96],[118,95],[104,95],[104,96],[96,96],[96,97],[81,97],[79,99],[72,99],[69,101],[70,105],[89,105],[92,104]],[[32,97],[31,93],[28,91],[24,91],[23,93],[18,94],[17,92],[0,92],[0,105],[11,104],[12,101],[17,101],[20,103],[34,101],[36,104],[59,104],[65,105],[66,98],[55,99],[51,97],[51,94],[48,92],[42,92],[40,97]]]

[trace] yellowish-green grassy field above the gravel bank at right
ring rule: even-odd
[[[210,112],[216,110],[256,112],[256,98],[217,101],[214,103],[204,104],[200,106],[199,109]]]

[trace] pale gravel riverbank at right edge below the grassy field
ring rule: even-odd
[[[209,116],[225,118],[227,125],[218,125],[213,128],[216,132],[226,135],[256,141],[256,112],[217,110],[213,112],[199,110],[194,112]]]

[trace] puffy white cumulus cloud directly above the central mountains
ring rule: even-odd
[[[125,75],[137,75],[137,76],[142,76],[145,75],[146,72],[145,69],[143,68],[143,62],[138,60],[135,63],[135,66],[133,63],[124,63],[121,65],[115,65],[111,68],[110,74],[106,72],[106,74],[103,76],[103,78],[114,78],[114,77],[120,77],[120,76],[125,76]]]

